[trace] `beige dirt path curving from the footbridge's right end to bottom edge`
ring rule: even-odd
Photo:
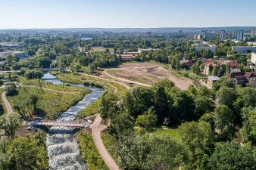
[[[97,113],[97,117],[91,125],[92,128],[92,138],[95,144],[95,147],[98,150],[98,153],[101,155],[101,158],[104,160],[105,164],[108,166],[110,170],[118,170],[119,167],[117,163],[114,161],[112,156],[108,153],[102,139],[101,139],[101,131],[107,128],[107,125],[101,124],[101,116]]]

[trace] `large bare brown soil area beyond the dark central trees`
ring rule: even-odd
[[[121,79],[133,80],[148,85],[157,82],[158,79],[170,79],[176,87],[186,90],[193,82],[191,79],[177,78],[170,73],[170,70],[164,69],[161,64],[155,63],[124,63],[117,68],[106,69],[108,74]]]

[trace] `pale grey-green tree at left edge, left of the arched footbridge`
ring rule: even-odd
[[[20,115],[18,113],[10,113],[0,116],[0,127],[5,130],[5,135],[11,141],[14,139],[15,132],[21,124]]]

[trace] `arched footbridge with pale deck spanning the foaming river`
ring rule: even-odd
[[[50,116],[56,116],[56,115],[69,115],[69,116],[76,116],[79,117],[80,119],[83,119],[85,122],[58,122],[58,121],[45,121],[43,119],[50,117]],[[66,127],[73,127],[73,128],[86,128],[89,127],[90,121],[87,119],[84,119],[81,116],[77,116],[71,113],[55,113],[49,116],[45,116],[39,120],[36,120],[34,122],[31,122],[30,127],[28,127],[28,130],[32,130],[36,128],[37,125],[45,125],[45,126],[66,126]]]

